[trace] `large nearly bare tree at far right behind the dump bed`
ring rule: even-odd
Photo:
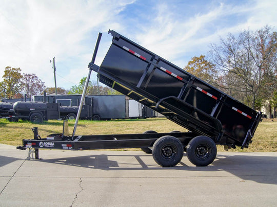
[[[257,100],[270,99],[277,84],[276,40],[277,33],[265,26],[238,37],[229,34],[219,45],[211,44],[209,57],[224,81],[221,88],[253,109]]]

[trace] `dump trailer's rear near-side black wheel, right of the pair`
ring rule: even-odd
[[[216,157],[217,149],[207,136],[194,137],[187,146],[187,157],[196,166],[210,165]]]

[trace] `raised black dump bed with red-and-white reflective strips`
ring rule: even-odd
[[[109,31],[112,44],[99,80],[217,144],[248,147],[262,114],[126,37]]]

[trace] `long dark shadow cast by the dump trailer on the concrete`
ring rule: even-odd
[[[217,172],[225,171],[244,180],[253,180],[260,183],[270,183],[277,185],[277,158],[274,156],[257,155],[217,155],[210,166],[196,167],[188,166],[182,160],[179,165],[172,168],[162,168],[157,164],[147,164],[143,161],[144,157],[151,155],[89,155],[55,159],[43,159],[39,162],[54,163],[67,166],[78,166],[83,168],[101,170],[184,170],[195,172]],[[123,157],[118,163],[116,157]],[[126,157],[126,160],[124,159]],[[134,157],[136,162],[130,157]],[[184,158],[186,154],[184,153]],[[151,156],[152,158],[152,156]],[[113,160],[111,160],[113,159]],[[119,159],[119,158],[118,158]],[[186,159],[186,158],[185,158]],[[125,167],[126,165],[126,167]],[[172,176],[172,174],[171,174]],[[207,176],[210,176],[207,175]],[[211,175],[213,176],[213,175]],[[217,175],[218,176],[218,175]],[[226,175],[228,176],[228,175]],[[184,177],[186,175],[184,174]]]

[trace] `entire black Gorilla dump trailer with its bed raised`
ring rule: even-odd
[[[248,148],[261,121],[261,112],[121,34],[108,33],[112,35],[112,43],[100,66],[94,64],[102,34],[98,35],[83,96],[91,71],[95,71],[100,82],[163,114],[187,132],[157,133],[149,129],[140,134],[75,135],[77,116],[72,135],[66,135],[64,127],[64,133],[41,138],[38,129],[33,128],[34,138],[23,140],[23,146],[18,149],[29,148],[29,152],[34,149],[38,158],[40,148],[142,148],[152,153],[157,164],[172,167],[180,162],[184,151],[192,164],[207,166],[216,157],[216,144],[224,145],[225,149]]]

